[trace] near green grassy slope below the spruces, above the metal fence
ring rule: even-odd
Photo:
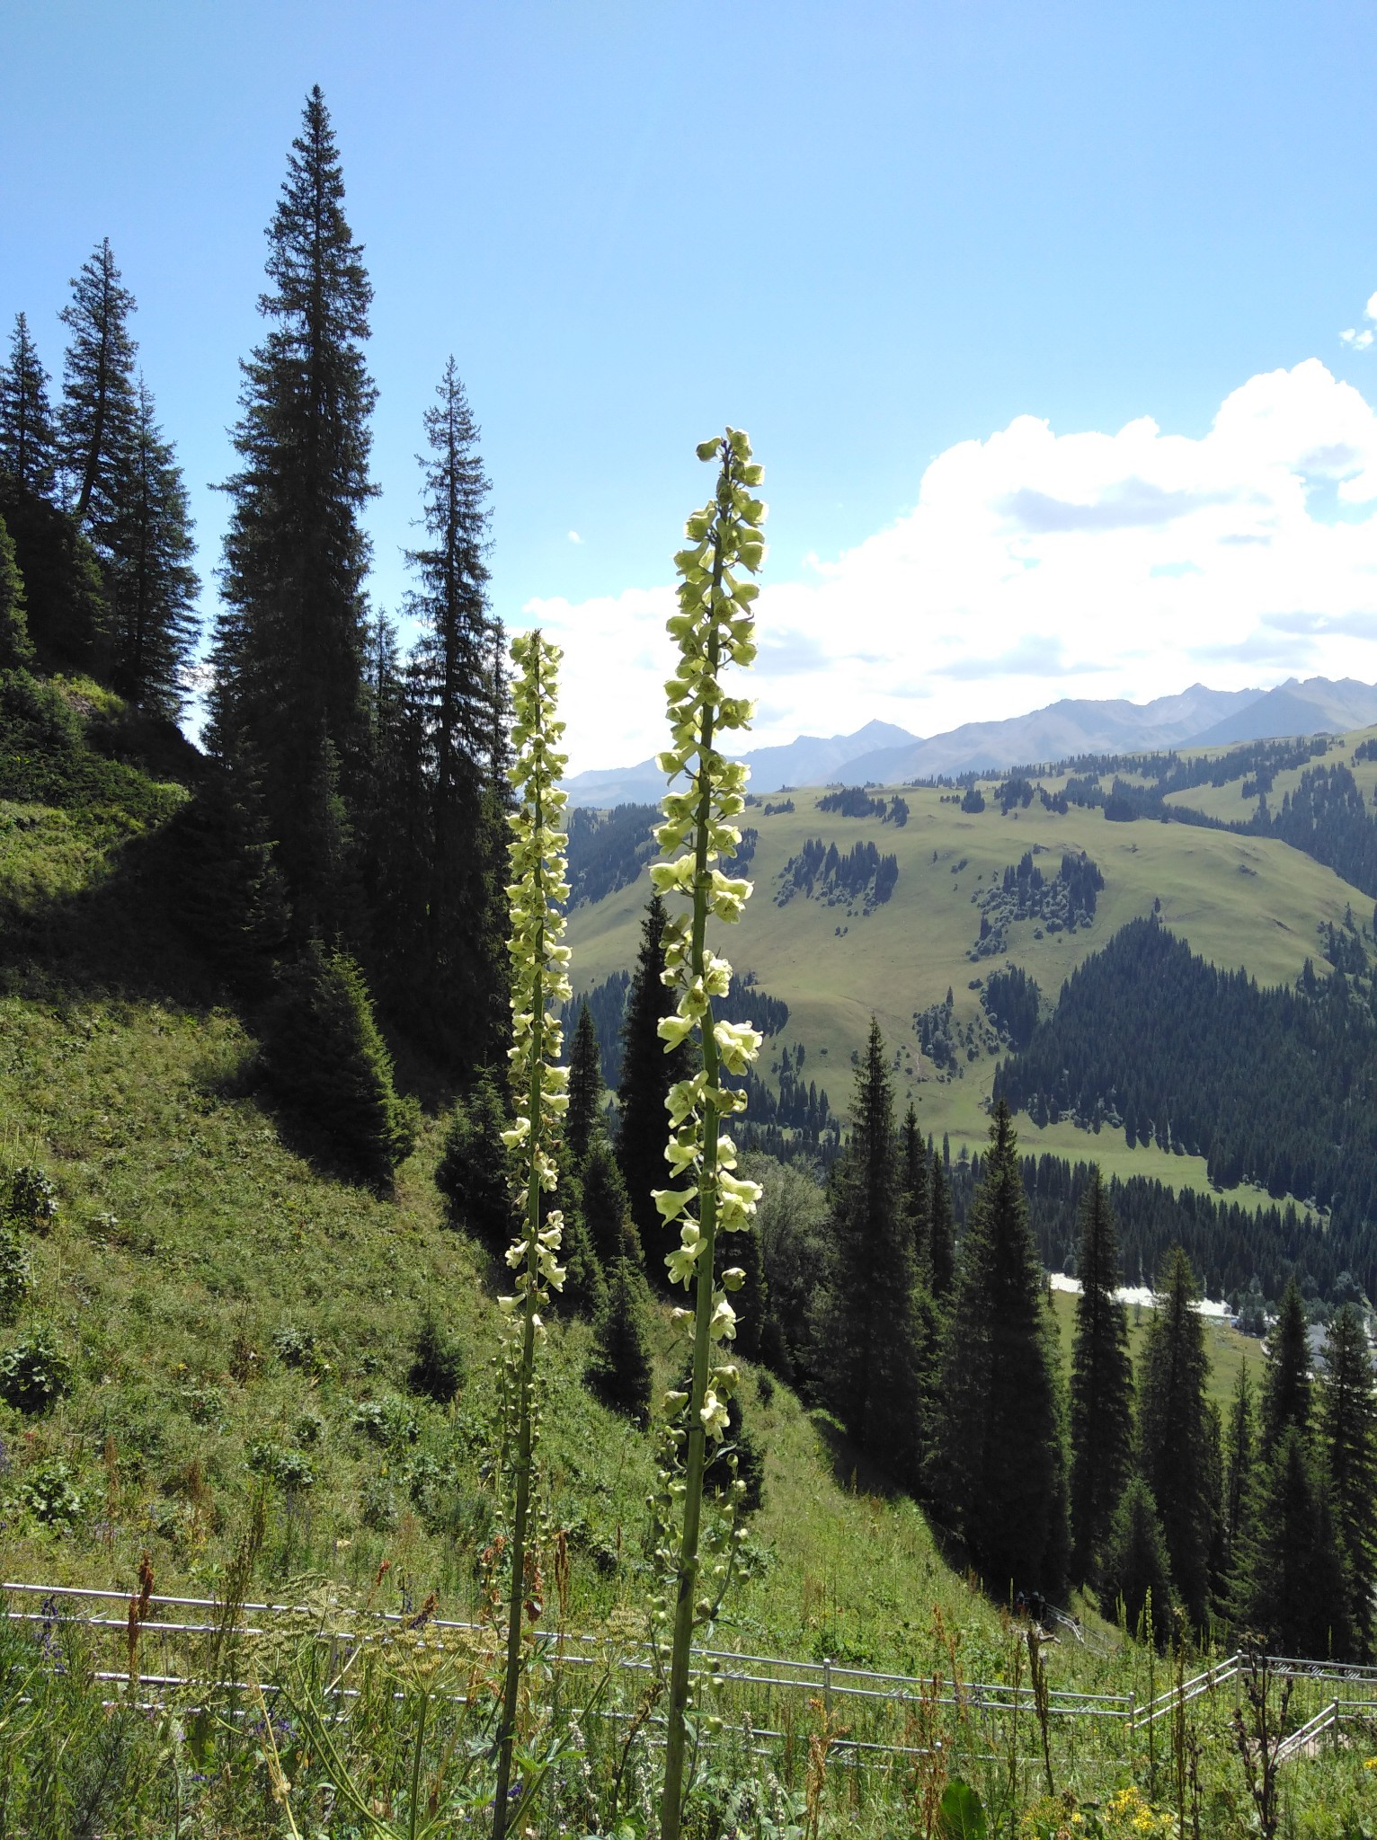
[[[0,1354],[46,1330],[70,1363],[50,1411],[0,1402],[0,1573],[127,1588],[147,1551],[160,1590],[212,1593],[261,1490],[260,1588],[318,1571],[462,1614],[492,1527],[501,1273],[446,1220],[444,1106],[394,1196],[295,1146],[250,1029],[147,867],[184,793],[144,791],[138,810],[110,788],[0,800],[0,1165],[57,1187],[48,1231],[24,1235],[31,1290]],[[451,1404],[411,1386],[427,1312],[466,1376]],[[655,1336],[666,1382],[683,1362],[668,1312]],[[587,1325],[552,1325],[549,1476],[584,1628],[641,1610],[652,1481],[648,1437],[582,1386],[589,1351]],[[878,1479],[788,1387],[747,1367],[742,1398],[766,1489],[723,1641],[909,1667],[933,1604],[992,1639],[911,1503],[867,1492]]]

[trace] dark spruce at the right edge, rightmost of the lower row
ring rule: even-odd
[[[1377,1582],[1377,1397],[1362,1312],[1346,1303],[1329,1323],[1320,1386],[1320,1446],[1329,1474],[1335,1535],[1349,1579],[1359,1652],[1373,1652]]]

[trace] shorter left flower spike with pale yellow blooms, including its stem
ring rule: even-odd
[[[515,1294],[503,1305],[503,1395],[510,1411],[514,1459],[510,1479],[512,1579],[506,1606],[506,1678],[503,1722],[497,1741],[497,1796],[493,1800],[493,1840],[503,1840],[515,1812],[508,1807],[512,1748],[515,1742],[517,1700],[521,1693],[521,1627],[530,1544],[530,1500],[536,1446],[534,1376],[536,1343],[543,1336],[539,1312],[550,1290],[563,1286],[558,1264],[563,1216],[545,1211],[541,1196],[558,1185],[554,1148],[560,1119],[569,1104],[567,1069],[560,1065],[560,1005],[569,1001],[569,948],[561,946],[569,900],[565,876],[567,835],[560,826],[565,793],[560,776],[567,756],[558,753],[563,723],[556,719],[556,670],[560,648],[538,631],[512,640],[515,681],[512,684],[512,786],[519,806],[510,817],[512,881],[506,889],[512,937],[512,1047],[510,1073],[515,1121],[503,1141],[519,1152],[514,1179],[521,1233],[508,1249],[506,1262],[517,1273]]]

